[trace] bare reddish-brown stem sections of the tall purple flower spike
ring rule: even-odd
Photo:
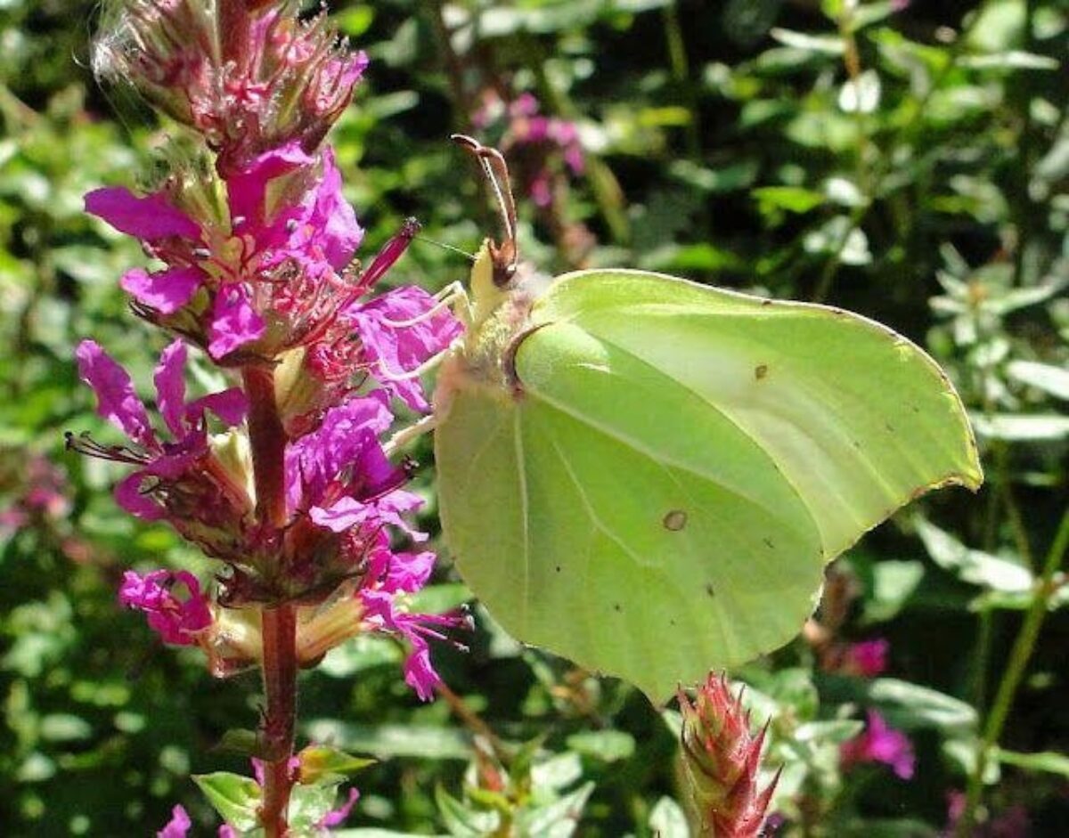
[[[285,525],[286,435],[275,402],[273,370],[246,367],[242,371],[249,399],[249,441],[257,488],[257,517],[261,524]],[[264,746],[263,801],[260,822],[267,838],[284,838],[293,777],[294,728],[297,718],[297,615],[282,604],[261,612],[263,637],[264,711],[261,733]]]

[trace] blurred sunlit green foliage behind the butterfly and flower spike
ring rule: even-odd
[[[211,748],[257,712],[253,673],[213,682],[119,610],[126,568],[211,568],[120,513],[117,469],[62,450],[64,430],[109,434],[77,383],[77,341],[93,336],[142,383],[160,341],[118,289],[140,254],[81,212],[87,190],[136,184],[168,130],[128,92],[94,84],[96,9],[0,3],[10,836],[153,834],[176,802],[206,831],[188,775],[244,771]],[[373,62],[334,135],[369,229],[365,258],[408,215],[469,251],[494,230],[446,137],[508,146],[515,126],[494,108],[529,92],[576,124],[586,155],[574,176],[553,151],[510,153],[525,255],[544,269],[628,265],[841,305],[945,366],[974,417],[986,487],[938,493],[866,538],[818,615],[833,642],[887,638],[887,677],[828,671],[826,647],[804,640],[732,673],[752,685],[755,719],[771,719],[781,834],[939,834],[1069,503],[1066,4],[381,0],[331,12]],[[528,200],[546,171],[549,200]],[[390,281],[437,289],[465,274],[463,258],[418,242]],[[420,480],[433,526],[430,468]],[[428,595],[448,607],[464,592],[444,558]],[[1049,618],[985,772],[991,817],[1019,807],[1034,835],[1063,835],[1069,819],[1065,581],[1056,572],[1043,589]],[[419,704],[400,650],[381,640],[304,677],[305,734],[379,759],[341,834],[511,822],[529,835],[686,835],[671,712],[477,617],[469,652],[435,650],[456,698]],[[912,780],[842,771],[838,745],[867,708],[912,738]]]

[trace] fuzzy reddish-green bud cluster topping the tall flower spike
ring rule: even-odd
[[[301,21],[298,11],[297,0],[112,3],[93,68],[202,135],[224,175],[291,142],[311,153],[368,58],[346,48],[325,12]]]

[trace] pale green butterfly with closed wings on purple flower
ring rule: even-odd
[[[823,569],[929,488],[982,481],[920,348],[840,309],[642,270],[520,278],[506,221],[434,398],[441,526],[517,639],[654,701],[784,646]]]

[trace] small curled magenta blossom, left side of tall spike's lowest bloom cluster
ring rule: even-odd
[[[184,600],[174,595],[180,583],[187,592]],[[195,646],[197,634],[212,624],[207,598],[197,577],[187,571],[153,571],[145,576],[126,571],[119,602],[144,611],[153,631],[172,646]]]

